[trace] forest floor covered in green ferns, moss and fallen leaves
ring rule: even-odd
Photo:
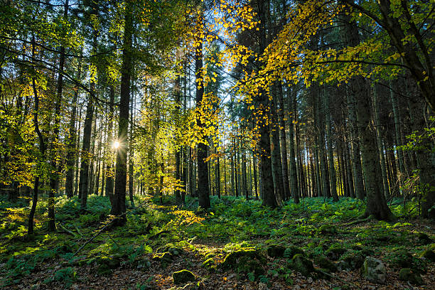
[[[39,203],[33,236],[26,235],[28,206],[0,200],[0,289],[435,289],[435,223],[417,218],[414,202],[404,208],[392,200],[392,223],[355,223],[365,205],[350,198],[271,210],[257,200],[212,197],[208,213],[190,198],[183,208],[171,197],[135,203],[127,225],[90,241],[111,219],[108,198],[91,195],[82,215],[76,199],[58,198],[54,233],[47,204]],[[385,282],[360,272],[367,256],[385,264]],[[399,279],[402,268],[417,280]],[[183,269],[193,275],[174,274],[181,279],[174,284]]]

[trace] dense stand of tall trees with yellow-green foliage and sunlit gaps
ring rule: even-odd
[[[435,215],[431,1],[1,2],[0,190],[28,232],[59,195],[120,225],[134,194]]]

